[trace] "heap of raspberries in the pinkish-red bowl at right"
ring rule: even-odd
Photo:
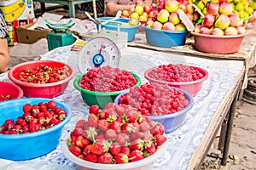
[[[189,65],[159,65],[148,72],[148,77],[165,82],[191,82],[199,80],[204,75]]]

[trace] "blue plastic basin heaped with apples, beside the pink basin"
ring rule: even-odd
[[[146,40],[149,45],[172,48],[183,46],[186,42],[188,31],[165,31],[143,26],[146,33]]]

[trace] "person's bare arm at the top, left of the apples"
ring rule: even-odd
[[[130,10],[131,8],[134,8],[134,6],[134,4],[117,4],[113,2],[108,2],[106,3],[106,10],[108,15],[114,16],[119,10]]]

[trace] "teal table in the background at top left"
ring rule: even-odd
[[[61,5],[67,5],[69,8],[69,16],[70,18],[75,18],[75,5],[81,3],[90,3],[92,0],[34,0],[34,2],[40,2],[42,9],[45,10],[44,3],[58,3]]]

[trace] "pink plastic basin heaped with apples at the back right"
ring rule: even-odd
[[[237,36],[214,36],[191,32],[195,49],[210,54],[234,54],[238,52],[244,34]]]

